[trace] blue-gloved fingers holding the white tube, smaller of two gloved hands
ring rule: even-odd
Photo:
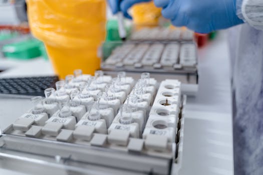
[[[149,1],[151,0],[108,0],[108,3],[111,7],[113,14],[116,14],[118,11],[122,11],[125,17],[132,19],[132,17],[127,12],[127,10],[135,3],[149,2]]]

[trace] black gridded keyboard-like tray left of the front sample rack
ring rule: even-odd
[[[58,80],[58,76],[0,78],[0,93],[45,96],[44,90],[49,87],[55,88]]]

